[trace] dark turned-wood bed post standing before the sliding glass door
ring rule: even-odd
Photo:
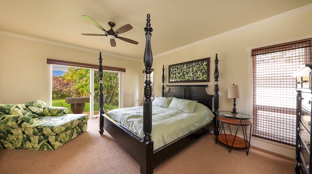
[[[103,69],[102,69],[102,55],[99,52],[99,67],[98,67],[98,79],[99,79],[99,134],[103,134],[104,132],[104,93],[103,93]]]

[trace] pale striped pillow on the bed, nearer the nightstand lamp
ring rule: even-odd
[[[173,98],[168,108],[186,113],[193,113],[195,105],[196,102],[192,100]]]

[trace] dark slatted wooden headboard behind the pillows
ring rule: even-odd
[[[167,85],[168,91],[165,97],[176,97],[180,99],[195,100],[198,103],[206,105],[213,110],[213,97],[206,92],[208,85]]]

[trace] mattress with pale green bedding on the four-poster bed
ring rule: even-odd
[[[143,138],[143,106],[114,109],[107,116]],[[154,150],[212,122],[213,119],[213,112],[200,103],[196,103],[193,113],[153,105],[151,137]]]

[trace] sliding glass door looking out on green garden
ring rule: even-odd
[[[99,113],[99,78],[97,69],[51,65],[52,68],[52,105],[67,107],[67,97],[89,98],[85,103],[83,113],[90,118],[98,117]],[[119,73],[115,71],[103,72],[104,109],[109,111],[119,107]],[[92,82],[92,83],[90,83]]]

